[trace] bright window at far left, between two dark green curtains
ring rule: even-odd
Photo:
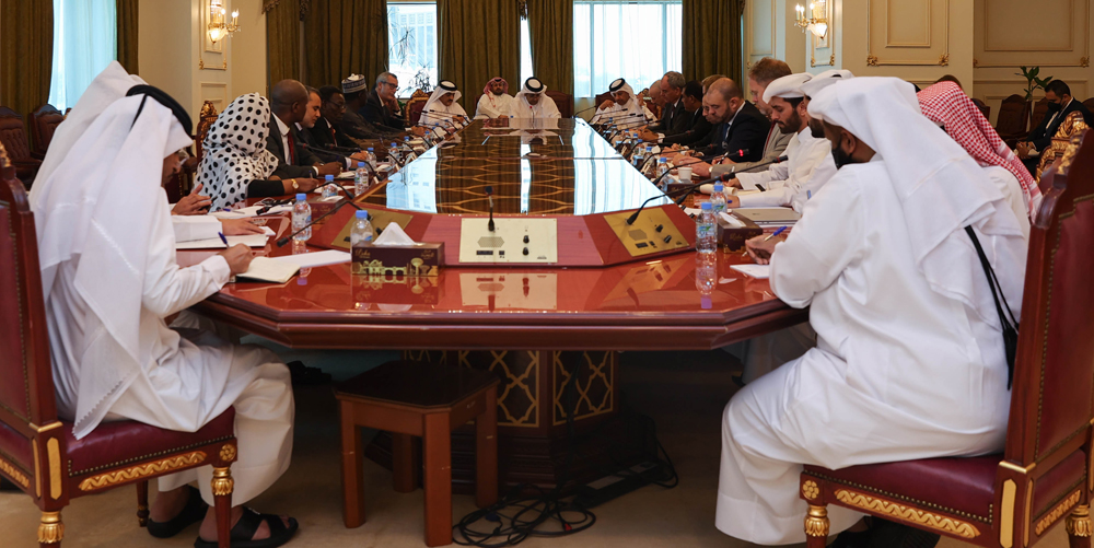
[[[117,58],[115,0],[53,0],[54,69],[49,104],[75,104],[91,81]]]

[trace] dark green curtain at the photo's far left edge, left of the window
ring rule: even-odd
[[[53,0],[0,0],[0,105],[26,115],[49,101]]]

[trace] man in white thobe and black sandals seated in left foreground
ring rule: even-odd
[[[105,89],[126,93],[131,83],[116,80]],[[288,468],[289,371],[259,347],[166,326],[165,317],[245,271],[251,253],[235,246],[189,268],[175,264],[170,207],[156,182],[178,170],[176,151],[190,143],[189,117],[150,86],[128,94],[88,116],[89,124],[69,128],[68,148],[56,151],[65,161],[35,185],[32,208],[58,411],[74,422],[73,435],[81,439],[102,421],[119,419],[193,432],[234,406],[233,502],[242,504]],[[193,480],[200,480],[200,498],[211,503],[211,467],[161,478],[152,521],[174,522],[191,505],[186,485]],[[201,518],[195,546],[214,546],[216,515],[202,512],[188,523]],[[274,545],[296,529],[294,520],[245,513],[242,506],[233,509],[232,518],[242,527],[233,530],[269,537]]]

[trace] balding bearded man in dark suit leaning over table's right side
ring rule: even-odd
[[[714,131],[695,144],[697,158],[693,163],[677,158],[674,164],[690,165],[691,173],[707,177],[711,163],[723,156],[755,162],[764,155],[769,120],[756,105],[745,101],[736,82],[729,78],[718,80],[707,90],[702,104],[707,108],[707,120],[715,126]],[[745,154],[740,154],[741,151]]]

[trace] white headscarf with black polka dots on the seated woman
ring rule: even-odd
[[[247,185],[266,179],[277,167],[277,156],[266,150],[269,100],[257,93],[240,95],[209,128],[196,183],[212,198],[214,209],[247,197]]]

